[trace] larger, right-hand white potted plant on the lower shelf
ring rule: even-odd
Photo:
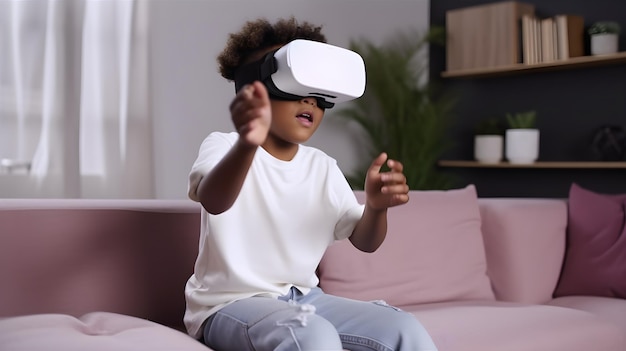
[[[536,111],[507,113],[505,156],[510,163],[529,164],[539,157],[539,129]]]

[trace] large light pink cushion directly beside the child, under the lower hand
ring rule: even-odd
[[[376,252],[363,253],[348,240],[328,248],[319,268],[321,288],[395,306],[493,300],[475,187],[411,191],[410,197],[389,209],[387,238]]]

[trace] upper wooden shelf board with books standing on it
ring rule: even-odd
[[[444,78],[463,78],[463,77],[488,77],[503,76],[516,73],[545,72],[556,71],[572,68],[603,66],[610,64],[626,63],[626,51],[616,54],[598,55],[598,56],[580,56],[573,57],[568,60],[543,62],[538,64],[515,64],[508,66],[498,66],[490,68],[475,68],[459,71],[445,71],[441,73]]]

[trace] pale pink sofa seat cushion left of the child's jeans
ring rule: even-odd
[[[149,320],[109,312],[80,318],[37,314],[0,319],[0,350],[207,351],[187,334]]]

